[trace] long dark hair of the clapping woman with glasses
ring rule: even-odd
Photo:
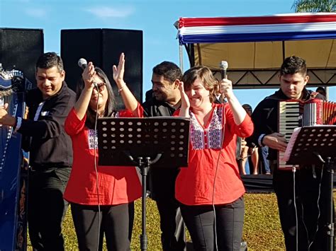
[[[108,99],[106,102],[106,107],[105,107],[105,112],[104,112],[104,117],[111,117],[113,115],[114,109],[115,109],[115,96],[113,93],[113,89],[111,86],[110,81],[108,81],[108,77],[106,74],[103,72],[102,69],[99,67],[94,67],[96,74],[103,80],[104,83],[106,83],[106,89],[108,92]],[[79,99],[79,96],[81,95],[82,91],[84,90],[85,83],[83,81],[83,78],[79,78],[79,81],[77,83],[77,88],[76,88],[76,98],[77,100]],[[86,110],[86,122],[85,125],[89,129],[94,129],[94,122],[96,121],[96,112],[91,109],[90,105]]]

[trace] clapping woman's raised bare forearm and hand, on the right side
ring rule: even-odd
[[[136,100],[133,93],[130,91],[128,86],[126,85],[125,81],[123,81],[123,74],[125,72],[125,54],[121,53],[119,58],[118,67],[113,65],[113,79],[116,81],[118,86],[118,91],[123,98],[123,103],[127,110],[133,112],[133,115],[138,117],[137,107],[138,107],[138,100]]]

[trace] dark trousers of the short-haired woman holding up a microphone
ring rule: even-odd
[[[244,211],[243,197],[230,204],[215,205],[215,215],[211,205],[181,205],[182,216],[196,251],[217,250],[216,246],[218,250],[240,250]]]

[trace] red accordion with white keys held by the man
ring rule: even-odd
[[[311,99],[306,102],[299,100],[284,100],[279,102],[278,132],[284,134],[288,142],[297,127],[316,126],[321,124],[336,124],[336,103]],[[284,152],[278,152],[278,168],[289,170]]]

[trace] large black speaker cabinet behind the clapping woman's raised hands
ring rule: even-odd
[[[67,85],[76,91],[77,81],[82,77],[77,62],[80,58],[91,61],[108,76],[116,95],[117,110],[124,105],[113,80],[112,66],[118,65],[121,52],[125,53],[125,83],[142,102],[142,30],[61,30],[61,57]]]

